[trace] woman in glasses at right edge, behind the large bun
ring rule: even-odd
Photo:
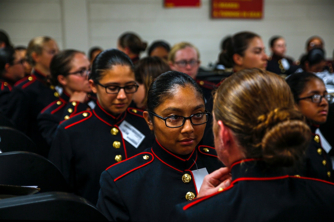
[[[330,156],[322,148],[319,135],[315,134],[319,125],[327,120],[328,103],[333,101],[333,96],[328,94],[322,79],[313,73],[292,74],[287,78],[287,83],[293,93],[296,107],[306,117],[312,132],[305,160],[292,172],[333,182]]]

